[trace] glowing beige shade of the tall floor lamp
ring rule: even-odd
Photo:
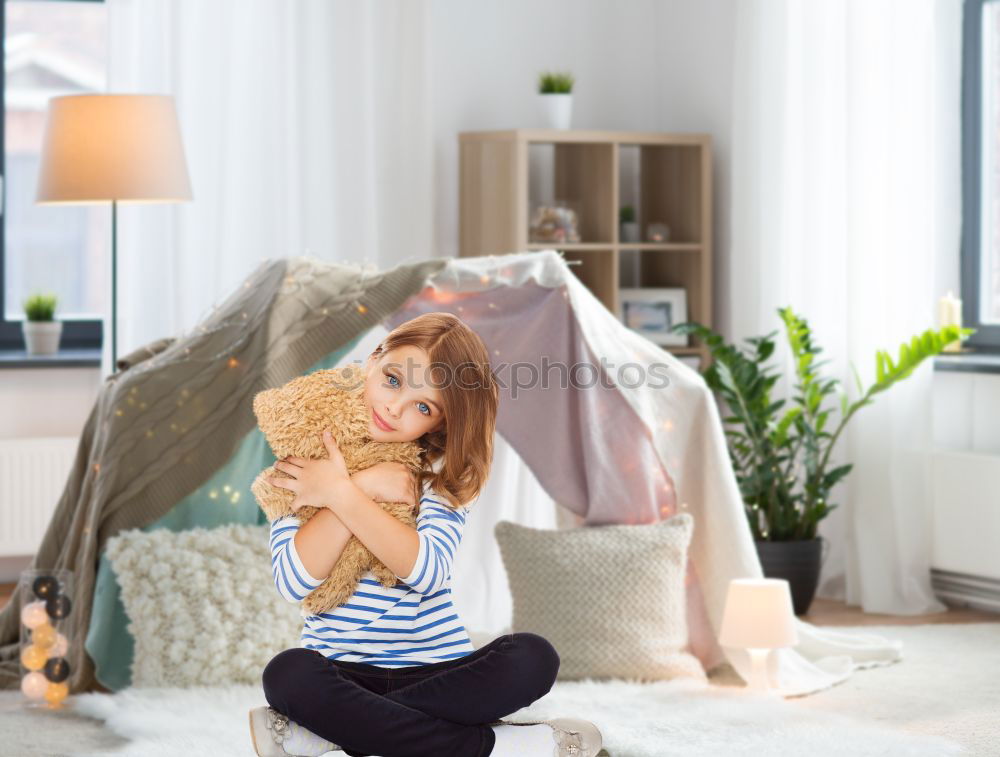
[[[191,199],[170,95],[65,95],[49,100],[36,202]]]

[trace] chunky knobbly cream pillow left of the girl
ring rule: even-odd
[[[259,684],[299,645],[299,605],[278,594],[267,525],[123,531],[107,554],[135,639],[132,685]]]

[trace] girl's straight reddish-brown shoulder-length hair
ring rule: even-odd
[[[421,436],[423,468],[416,477],[419,499],[424,484],[454,507],[472,501],[482,490],[493,462],[500,390],[483,340],[451,313],[424,313],[393,329],[372,352],[378,359],[397,347],[414,345],[427,352],[430,381],[441,392],[444,419]],[[432,465],[444,462],[438,472]]]

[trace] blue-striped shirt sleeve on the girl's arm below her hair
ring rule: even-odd
[[[468,506],[454,509],[433,492],[421,497],[417,513],[420,545],[417,561],[410,575],[396,577],[420,594],[433,594],[444,586],[451,575],[468,512]]]

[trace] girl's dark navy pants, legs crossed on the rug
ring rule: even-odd
[[[523,631],[403,668],[296,647],[275,655],[262,678],[271,707],[351,757],[485,757],[496,741],[488,724],[545,696],[558,671],[555,647]]]

